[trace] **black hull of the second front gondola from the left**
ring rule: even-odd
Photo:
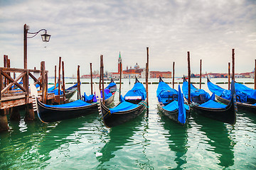
[[[134,108],[129,111],[122,111],[118,113],[110,113],[110,110],[101,103],[102,108],[102,120],[107,128],[113,128],[114,126],[126,123],[138,115],[143,113],[146,106],[144,104],[139,105],[139,107]]]

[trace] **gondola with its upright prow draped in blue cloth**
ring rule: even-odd
[[[178,91],[171,89],[161,77],[156,90],[156,96],[159,101],[161,111],[171,120],[181,125],[186,124],[189,117],[189,106],[184,104],[181,87],[178,85]]]

